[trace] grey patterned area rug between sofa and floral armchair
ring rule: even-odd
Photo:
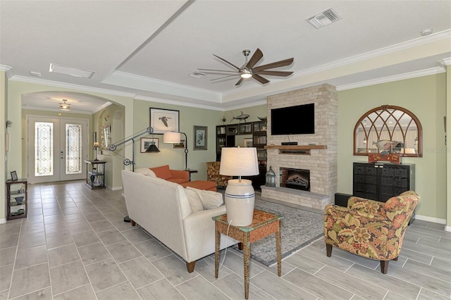
[[[255,208],[283,216],[280,221],[282,258],[288,257],[323,236],[323,214],[261,199],[256,194]],[[237,249],[237,246],[234,246]],[[264,265],[277,263],[276,236],[269,235],[251,245],[251,258]]]

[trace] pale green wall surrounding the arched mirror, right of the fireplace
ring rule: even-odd
[[[416,214],[445,220],[445,91],[445,73],[440,73],[338,92],[338,192],[352,194],[352,162],[367,161],[352,155],[357,120],[383,104],[402,106],[423,126],[423,157],[402,159],[416,164],[416,192],[421,196]]]

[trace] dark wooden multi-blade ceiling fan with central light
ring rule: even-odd
[[[275,63],[259,65],[258,67],[254,68],[254,65],[256,63],[258,63],[260,61],[260,59],[263,57],[263,52],[261,52],[261,50],[259,48],[257,48],[257,50],[252,55],[251,59],[249,59],[249,61],[247,61],[247,56],[249,56],[250,53],[251,53],[251,51],[249,49],[245,49],[242,51],[242,54],[245,56],[246,61],[245,61],[245,64],[242,65],[240,68],[237,67],[236,65],[234,65],[233,63],[229,63],[224,58],[221,58],[221,57],[213,54],[215,57],[221,59],[221,61],[224,61],[225,63],[228,63],[228,65],[233,66],[233,68],[236,69],[235,71],[212,70],[212,69],[197,69],[197,70],[214,72],[214,73],[216,73],[216,72],[233,73],[233,75],[215,78],[212,80],[220,80],[220,79],[227,78],[227,77],[240,76],[240,80],[238,80],[238,82],[235,85],[240,85],[243,80],[250,78],[250,77],[254,78],[254,80],[261,82],[262,84],[269,82],[269,80],[267,80],[264,77],[261,77],[260,75],[283,76],[283,77],[292,75],[292,72],[290,72],[290,71],[273,71],[273,70],[268,70],[268,69],[279,68],[279,67],[283,67],[285,65],[291,65],[294,58],[287,58],[287,59],[284,59],[283,61],[276,61]]]

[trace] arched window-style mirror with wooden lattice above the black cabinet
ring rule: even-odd
[[[384,105],[362,115],[354,127],[354,155],[397,153],[423,156],[423,129],[416,116],[400,106]]]

